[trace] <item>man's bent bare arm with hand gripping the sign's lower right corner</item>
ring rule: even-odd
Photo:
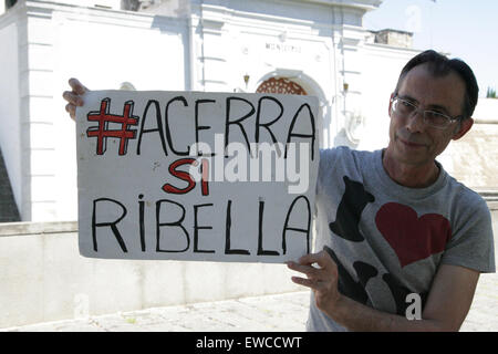
[[[310,288],[317,306],[350,331],[458,331],[470,309],[479,279],[479,272],[475,270],[440,266],[422,320],[407,320],[342,295],[338,291],[336,264],[325,251],[307,254],[298,263],[289,262],[288,267],[308,275],[308,279],[293,277],[292,281]]]

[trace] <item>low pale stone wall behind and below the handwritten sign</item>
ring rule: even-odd
[[[0,329],[302,288],[284,264],[80,256],[77,222],[0,223]]]

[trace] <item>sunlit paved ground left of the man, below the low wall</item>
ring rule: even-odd
[[[155,308],[0,331],[304,331],[308,292]]]

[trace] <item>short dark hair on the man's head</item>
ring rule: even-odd
[[[433,50],[422,52],[412,58],[403,67],[400,79],[397,80],[396,90],[394,94],[397,94],[401,83],[405,79],[406,74],[415,66],[426,64],[429,73],[435,77],[446,76],[450,72],[455,72],[465,82],[465,97],[463,104],[463,118],[471,117],[477,104],[477,96],[479,93],[479,86],[477,85],[476,76],[473,70],[460,59],[448,59],[447,56],[437,53]]]

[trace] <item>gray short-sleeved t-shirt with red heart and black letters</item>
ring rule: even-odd
[[[336,262],[342,294],[405,315],[408,294],[425,304],[439,264],[495,271],[486,202],[438,167],[432,186],[407,188],[385,173],[382,150],[320,152],[315,251]],[[344,331],[313,295],[307,329]]]

